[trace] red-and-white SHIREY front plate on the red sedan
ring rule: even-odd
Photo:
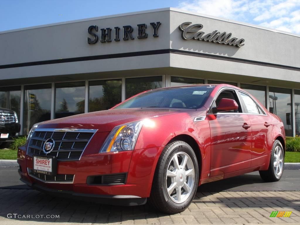
[[[56,175],[56,159],[50,156],[33,156],[33,171],[45,175]]]

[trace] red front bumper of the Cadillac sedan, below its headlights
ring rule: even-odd
[[[66,194],[76,199],[96,199],[112,205],[140,205],[150,196],[157,155],[161,147],[124,152],[85,155],[79,161],[58,161],[57,174],[74,175],[72,182],[45,182],[29,175],[32,157],[19,148],[17,162],[21,181],[34,189],[53,194]],[[88,177],[127,173],[125,184],[89,184]]]

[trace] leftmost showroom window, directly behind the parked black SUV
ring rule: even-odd
[[[15,111],[20,119],[21,86],[0,89],[0,107]]]

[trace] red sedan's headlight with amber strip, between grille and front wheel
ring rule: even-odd
[[[139,121],[113,128],[99,153],[133,150],[142,126]]]

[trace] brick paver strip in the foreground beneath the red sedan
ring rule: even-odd
[[[290,217],[269,217],[292,211]],[[7,214],[59,215],[60,218],[7,218]],[[0,189],[0,225],[46,224],[300,224],[300,191],[198,192],[193,203],[175,215],[151,206],[100,205],[49,196],[36,190]]]

